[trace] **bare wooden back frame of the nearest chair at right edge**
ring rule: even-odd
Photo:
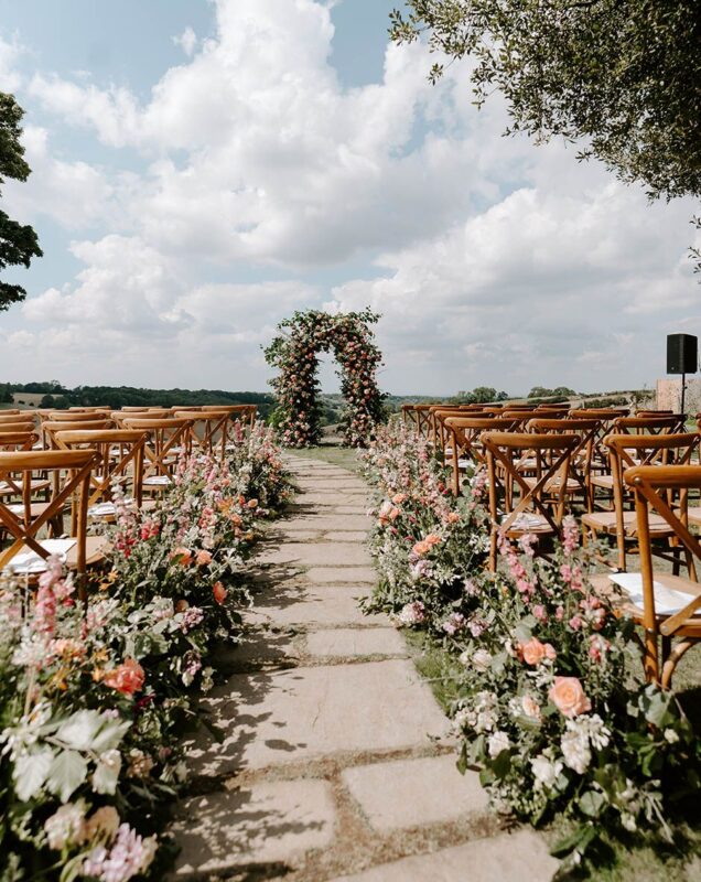
[[[690,490],[701,491],[701,466],[699,465],[640,465],[626,470],[624,474],[627,486],[635,496],[635,510],[637,534],[640,546],[640,574],[643,578],[643,626],[645,628],[645,668],[648,679],[669,685],[675,660],[668,670],[660,671],[657,635],[658,631],[665,637],[679,635],[683,639],[684,626],[692,625],[698,632],[701,621],[695,615],[701,610],[701,589],[698,593],[689,594],[688,602],[671,615],[658,620],[655,601],[655,572],[653,566],[650,514],[662,517],[673,531],[677,541],[683,547],[689,571],[693,582],[698,582],[697,561],[701,562],[701,545],[699,538],[693,536],[687,523],[687,499]],[[669,504],[670,497],[679,496],[680,507]],[[695,622],[690,622],[692,616]],[[659,623],[659,626],[658,626]],[[677,649],[678,652],[678,649]],[[683,652],[683,648],[682,648]],[[681,653],[679,653],[681,655]],[[661,676],[660,676],[661,675]]]

